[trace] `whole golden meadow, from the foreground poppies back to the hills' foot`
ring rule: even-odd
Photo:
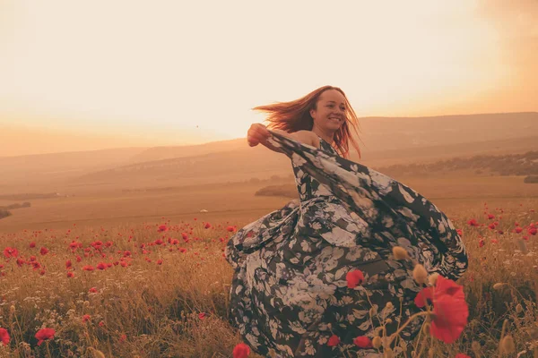
[[[415,352],[538,356],[538,185],[461,173],[398,180],[447,213],[469,252],[458,280],[470,312],[464,332],[447,345],[425,331]],[[241,338],[228,323],[224,247],[237,229],[290,200],[255,197],[259,189],[33,200],[4,218],[0,328],[9,343],[0,356],[231,357]],[[53,331],[41,331],[39,342],[42,328]],[[513,349],[500,354],[507,336]]]

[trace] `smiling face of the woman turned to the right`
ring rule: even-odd
[[[317,98],[316,109],[310,110],[317,127],[337,132],[346,118],[345,98],[338,90],[325,90]]]

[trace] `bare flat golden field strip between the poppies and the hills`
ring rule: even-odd
[[[448,217],[460,217],[462,209],[484,200],[499,203],[525,202],[538,198],[538,184],[523,183],[523,176],[473,175],[469,172],[421,177],[398,176],[396,180],[410,186],[431,200]],[[13,210],[13,216],[0,220],[0,232],[46,227],[131,225],[200,217],[208,220],[254,220],[279,209],[291,198],[260,197],[255,192],[267,183],[230,183],[161,189],[148,192],[107,190],[31,201],[30,208]],[[289,186],[294,184],[289,181]],[[13,200],[0,200],[0,206]],[[500,204],[499,204],[500,205]],[[206,209],[207,213],[200,213]]]

